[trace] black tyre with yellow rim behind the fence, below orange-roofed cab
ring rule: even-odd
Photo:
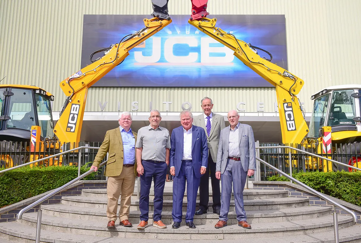
[[[3,166],[5,168],[10,168],[28,162],[27,160],[29,156],[26,155],[26,149],[24,147],[21,147],[19,142],[2,140],[0,142],[0,149],[0,167]],[[13,154],[14,152],[23,153]]]

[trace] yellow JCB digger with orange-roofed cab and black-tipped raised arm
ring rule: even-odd
[[[130,49],[172,22],[168,13],[168,1],[152,0],[153,18],[144,19],[144,28],[124,36],[119,43],[92,53],[90,56],[92,64],[60,83],[67,97],[55,128],[50,103],[54,97],[49,92],[35,86],[1,85],[0,140],[4,146],[0,146],[2,155],[0,159],[3,166],[12,167],[14,164],[39,159],[36,153],[27,158],[21,155],[20,152],[23,151],[53,152],[60,151],[61,146],[54,147],[50,144],[78,144],[88,88],[121,64],[129,55]],[[105,55],[93,60],[93,56],[97,53],[105,53]],[[50,141],[60,143],[49,143]],[[51,160],[47,161],[47,164],[61,164],[61,161]]]

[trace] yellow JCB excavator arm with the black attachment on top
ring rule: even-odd
[[[79,142],[88,88],[121,64],[129,55],[130,49],[172,22],[168,15],[168,0],[152,0],[152,4],[154,18],[145,18],[143,29],[126,35],[119,43],[109,48],[94,52],[92,55],[105,51],[105,55],[60,83],[62,91],[67,96],[54,128],[54,133],[60,142]]]

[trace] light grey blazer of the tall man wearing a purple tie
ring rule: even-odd
[[[226,127],[225,120],[223,116],[214,114],[212,112],[212,122],[209,136],[207,134],[207,129],[205,127],[204,115],[203,113],[199,116],[194,117],[193,125],[202,127],[205,131],[205,135],[207,137],[207,144],[209,153],[212,156],[213,162],[216,163],[217,160],[217,152],[218,152],[218,143],[219,143],[219,134],[221,130]]]

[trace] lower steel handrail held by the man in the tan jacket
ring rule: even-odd
[[[85,146],[84,146],[84,147],[85,147]],[[80,148],[80,147],[79,147],[79,148]],[[79,149],[79,148],[78,148],[78,149]],[[89,147],[87,147],[87,148],[89,148]],[[104,162],[102,162],[102,163],[99,165],[98,169],[99,169],[101,166],[105,165],[107,161],[108,161],[108,160],[105,160]],[[80,163],[79,163],[79,164],[80,164]],[[63,186],[61,186],[61,187],[56,188],[53,192],[51,192],[51,193],[43,196],[42,198],[36,200],[34,203],[32,203],[32,204],[26,206],[25,208],[21,209],[21,210],[19,211],[18,215],[17,215],[17,219],[18,219],[18,220],[21,220],[21,219],[22,219],[22,215],[23,215],[24,213],[26,213],[29,209],[31,209],[31,208],[39,205],[39,204],[41,205],[41,203],[42,203],[43,201],[45,201],[45,200],[47,200],[48,198],[56,195],[57,193],[59,193],[59,192],[61,192],[62,190],[64,190],[65,187],[70,186],[71,184],[79,181],[80,179],[82,179],[82,178],[86,177],[87,175],[91,174],[92,172],[94,172],[94,169],[88,170],[86,173],[84,173],[84,174],[82,174],[82,175],[79,175],[77,178],[73,179],[72,181],[66,183],[65,185],[63,185]],[[37,220],[37,222],[36,222],[36,235],[35,235],[35,242],[36,242],[36,243],[39,243],[39,242],[40,242],[41,222],[42,222],[42,209],[41,209],[41,207],[39,206],[39,210],[38,210],[38,220]]]

